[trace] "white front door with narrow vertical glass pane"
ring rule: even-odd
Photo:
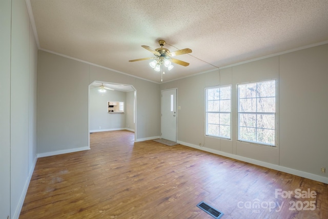
[[[176,89],[162,90],[161,138],[176,142]]]

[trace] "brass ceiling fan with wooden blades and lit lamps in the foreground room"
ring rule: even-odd
[[[183,62],[179,59],[176,58],[172,58],[174,56],[177,55],[182,55],[182,54],[187,54],[187,53],[191,53],[192,50],[189,48],[186,49],[180,49],[174,52],[170,52],[170,50],[163,48],[163,46],[166,44],[165,41],[163,41],[162,39],[160,39],[158,41],[160,48],[157,49],[152,49],[149,46],[141,46],[145,49],[147,49],[148,51],[152,52],[155,57],[148,57],[148,58],[138,58],[138,59],[133,59],[133,60],[129,60],[129,62],[136,62],[136,61],[142,61],[142,60],[147,60],[147,59],[154,59],[154,61],[152,61],[151,63],[149,63],[149,65],[154,68],[155,71],[161,71],[162,75],[165,73],[163,67],[167,67],[168,70],[171,70],[174,66],[171,64],[175,63],[178,65],[182,65],[182,66],[189,66],[189,63]],[[163,79],[161,78],[161,81],[163,81]]]

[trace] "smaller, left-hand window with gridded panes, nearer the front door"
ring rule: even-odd
[[[231,86],[206,89],[206,135],[231,138]]]

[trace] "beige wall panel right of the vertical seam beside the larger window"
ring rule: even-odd
[[[280,56],[280,165],[326,176],[328,44]]]

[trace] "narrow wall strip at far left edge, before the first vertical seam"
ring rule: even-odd
[[[0,2],[0,218],[10,215],[11,1]]]

